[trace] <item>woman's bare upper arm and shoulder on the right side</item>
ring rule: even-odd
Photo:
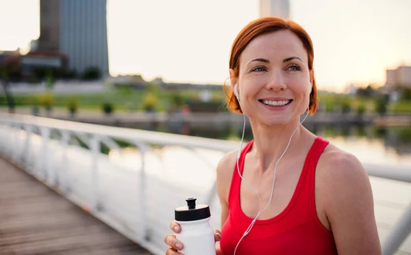
[[[325,215],[338,254],[382,254],[369,176],[356,157],[341,151],[325,154],[321,163]]]

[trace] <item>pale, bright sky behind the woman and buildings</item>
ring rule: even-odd
[[[222,84],[237,33],[258,0],[108,0],[111,75]],[[38,0],[0,0],[0,50],[39,36]],[[290,18],[314,43],[321,90],[383,85],[386,68],[411,65],[410,0],[290,0]]]

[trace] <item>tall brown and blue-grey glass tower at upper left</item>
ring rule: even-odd
[[[109,72],[106,0],[40,0],[39,51],[60,51],[69,68]]]

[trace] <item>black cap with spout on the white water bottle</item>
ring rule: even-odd
[[[191,222],[210,217],[210,207],[207,204],[196,205],[195,200],[197,200],[197,198],[187,198],[187,206],[181,206],[175,209],[175,220],[179,222]]]

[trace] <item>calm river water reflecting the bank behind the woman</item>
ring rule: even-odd
[[[411,166],[410,126],[306,126],[339,148],[356,155],[363,163]],[[240,142],[242,129],[190,129],[188,126],[169,126],[154,129],[214,139]],[[245,132],[245,142],[252,139],[251,130]]]

